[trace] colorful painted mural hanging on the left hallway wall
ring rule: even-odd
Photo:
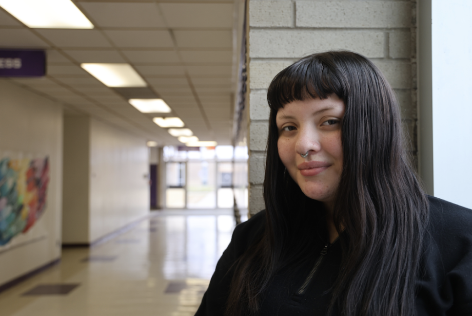
[[[49,158],[0,159],[0,246],[33,227],[46,209]]]

